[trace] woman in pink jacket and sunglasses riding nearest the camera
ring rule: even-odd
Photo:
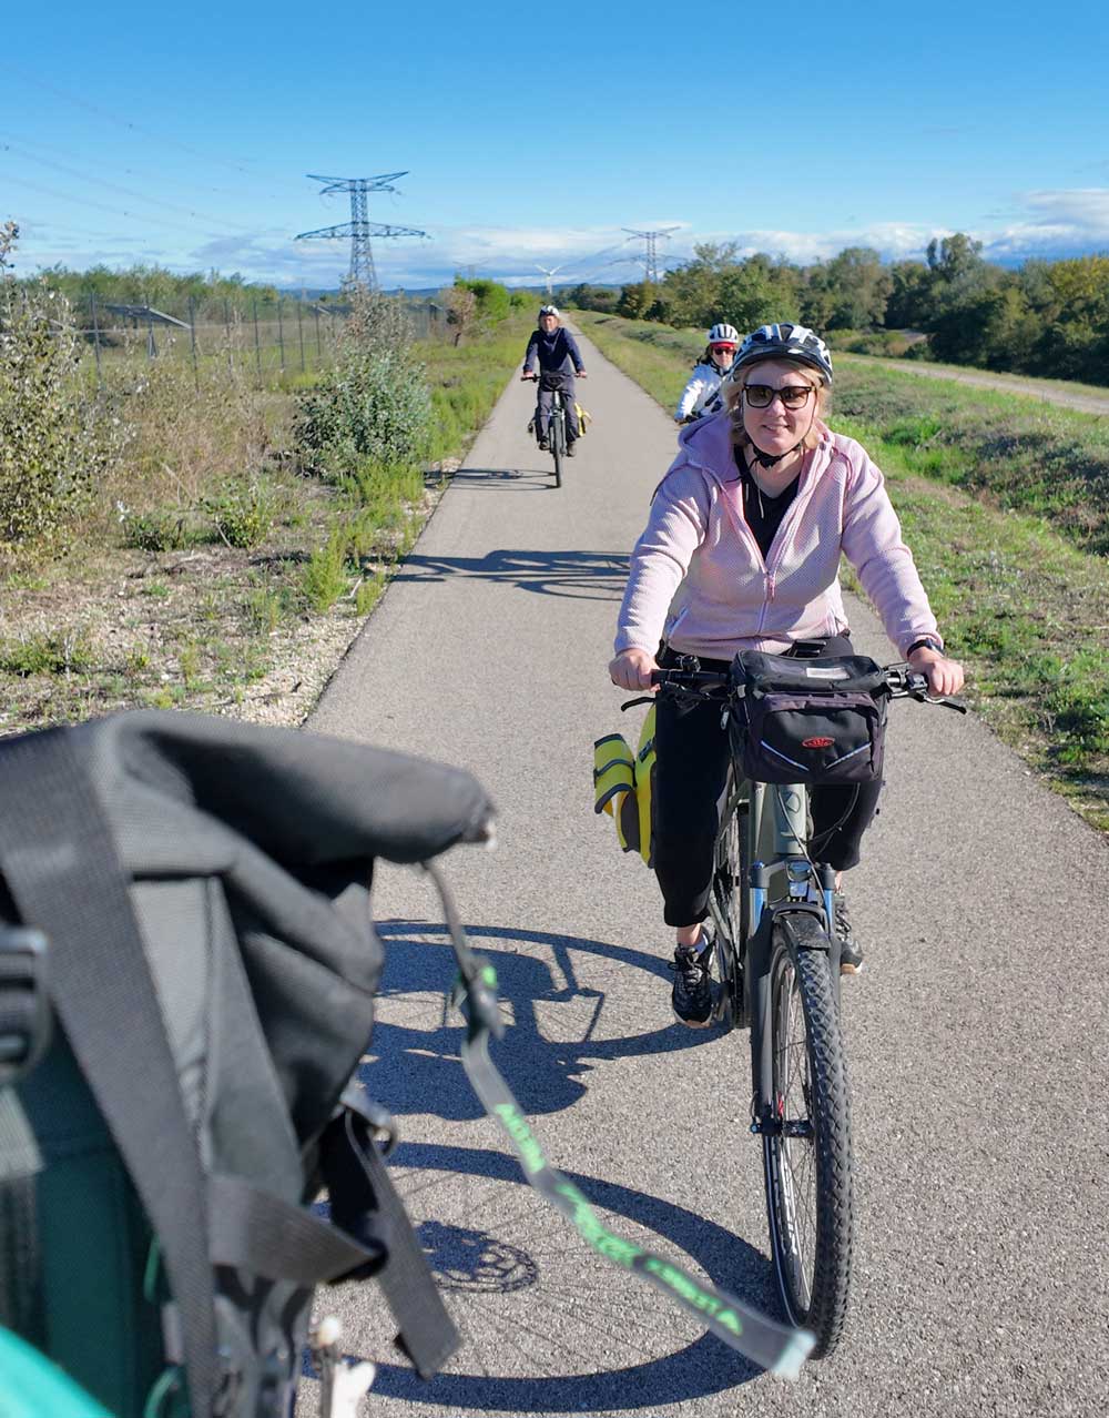
[[[623,689],[648,689],[651,672],[696,655],[726,671],[740,649],[851,654],[838,567],[844,553],[886,634],[936,695],[957,693],[936,618],[901,537],[882,474],[852,438],[824,424],[832,383],[828,347],[800,325],[764,325],[739,349],[725,410],[685,428],[655,489],[631,554],[608,666]],[[667,925],[676,926],[674,1011],[703,1027],[712,1001],[708,916],[716,803],[729,764],[719,706],[661,698],[655,729],[655,872]],[[837,872],[835,932],[844,968],[862,951],[841,876],[859,859],[881,784],[811,791],[817,862]]]

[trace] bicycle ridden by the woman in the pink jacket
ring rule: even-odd
[[[841,726],[857,712],[872,712],[881,735],[884,699],[912,698],[963,713],[966,706],[929,695],[926,678],[905,664],[879,668],[864,657],[838,662],[864,675],[849,685],[858,692],[848,695],[838,692],[834,678],[818,678],[834,676],[835,661],[817,664],[806,682],[804,661],[794,661],[798,668],[793,668],[781,657],[794,682],[780,695],[781,713],[771,716],[745,655],[729,674],[701,671],[693,657],[685,659],[655,671],[652,682],[679,702],[719,703],[732,740],[708,902],[715,926],[712,1018],[725,1029],[750,1028],[750,1132],[763,1144],[779,1289],[791,1323],[815,1336],[811,1357],[821,1358],[835,1349],[847,1317],[854,1239],[851,1100],[840,1015],[835,873],[810,855],[806,781],[786,778],[808,774],[808,781],[820,781],[814,754],[824,769],[834,769],[865,752],[837,743],[847,737]],[[798,727],[810,709],[823,732]],[[874,743],[875,733],[869,737]],[[745,756],[749,767],[756,756],[770,781],[749,780]]]

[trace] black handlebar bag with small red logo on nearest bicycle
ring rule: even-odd
[[[882,776],[888,691],[865,655],[793,659],[746,649],[732,750],[757,783],[871,783]]]

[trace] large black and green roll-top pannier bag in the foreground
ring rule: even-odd
[[[116,1418],[284,1418],[313,1288],[376,1275],[434,1373],[457,1333],[352,1076],[373,859],[482,839],[481,787],[140,712],[0,742],[0,1323]]]

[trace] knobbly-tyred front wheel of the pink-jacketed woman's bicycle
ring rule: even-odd
[[[781,1299],[817,1337],[840,1341],[851,1285],[851,1100],[827,949],[813,916],[774,927],[770,961],[773,1113],[763,1134],[766,1204]],[[798,949],[790,950],[786,932]]]

